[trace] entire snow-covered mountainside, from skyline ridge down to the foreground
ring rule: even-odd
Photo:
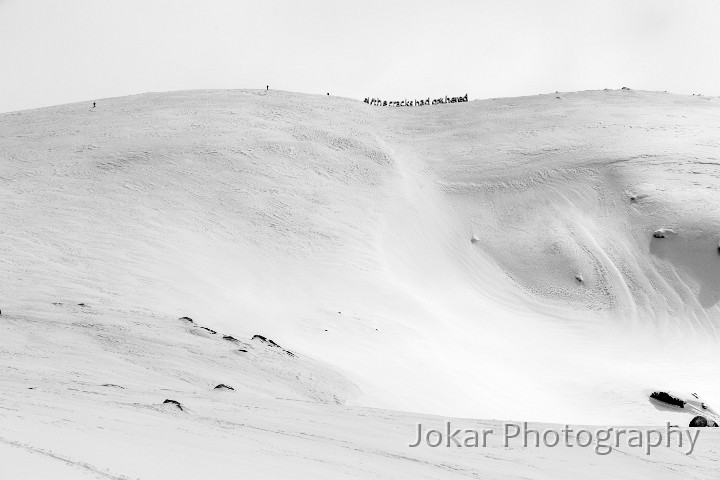
[[[0,115],[0,479],[717,477],[711,429],[691,457],[407,444],[720,408],[720,100],[90,107]]]

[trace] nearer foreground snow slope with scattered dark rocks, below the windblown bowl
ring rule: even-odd
[[[622,444],[599,456],[593,446],[574,445],[574,436],[572,447],[514,441],[507,448],[498,421],[324,399],[317,393],[344,384],[311,360],[257,340],[204,335],[150,312],[56,307],[54,321],[4,318],[3,480],[556,479],[579,471],[591,479],[717,478],[717,429],[702,429],[692,455],[673,445],[646,456]],[[215,389],[221,382],[234,390]],[[418,422],[444,430],[446,421],[494,433],[479,448],[408,447]]]

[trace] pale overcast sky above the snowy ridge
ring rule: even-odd
[[[0,0],[0,112],[149,91],[720,95],[718,0]]]

